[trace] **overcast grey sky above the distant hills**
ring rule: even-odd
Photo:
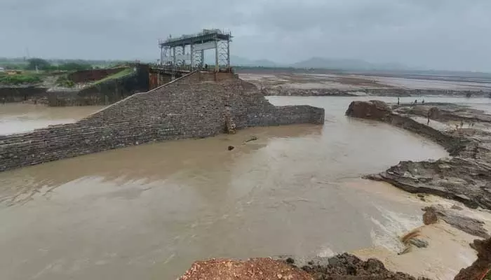
[[[0,0],[0,57],[157,59],[203,28],[249,59],[491,71],[491,0]]]

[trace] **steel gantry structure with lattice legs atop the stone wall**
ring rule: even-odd
[[[220,29],[203,29],[200,33],[169,36],[159,40],[161,66],[173,69],[204,69],[205,50],[215,50],[215,71],[230,69],[231,33]],[[212,70],[212,69],[210,69]]]

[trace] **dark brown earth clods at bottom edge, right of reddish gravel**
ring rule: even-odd
[[[355,255],[344,253],[332,258],[324,258],[322,261],[312,261],[302,267],[304,271],[311,274],[315,280],[332,279],[398,279],[398,280],[425,280],[426,278],[415,278],[402,272],[391,272],[384,264],[370,258],[367,261],[360,260]]]

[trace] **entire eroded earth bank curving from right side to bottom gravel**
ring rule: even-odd
[[[422,209],[424,225],[401,236],[402,251],[391,255],[370,249],[330,258],[213,259],[195,262],[180,279],[485,279],[491,268],[491,116],[455,104],[389,106],[379,101],[352,102],[346,114],[415,132],[450,153],[439,160],[402,161],[365,176],[430,204]],[[474,251],[472,265],[455,267],[452,275],[428,273],[439,271],[436,259],[463,258],[462,248]]]

